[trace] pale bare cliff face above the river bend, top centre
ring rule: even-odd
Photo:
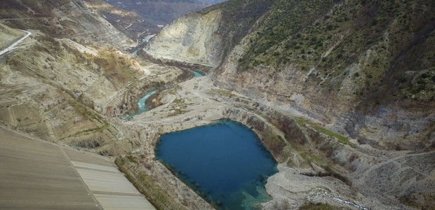
[[[186,15],[161,29],[145,52],[156,58],[217,66],[222,60],[222,37],[216,33],[221,18],[220,10]]]

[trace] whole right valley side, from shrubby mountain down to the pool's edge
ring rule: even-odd
[[[210,80],[225,89],[216,103],[242,103],[257,115],[218,111],[253,127],[286,165],[269,180],[274,202],[265,207],[301,207],[303,198],[328,194],[313,193],[307,176],[330,176],[366,197],[354,197],[359,202],[427,208],[434,204],[427,188],[435,172],[434,10],[431,1],[227,1],[176,20],[144,50],[166,64],[216,66]],[[288,186],[289,177],[306,188]]]

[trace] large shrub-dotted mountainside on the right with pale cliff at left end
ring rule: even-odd
[[[173,22],[147,52],[217,65],[217,85],[361,143],[433,150],[431,10],[427,1],[229,1]],[[198,27],[215,13],[218,24]]]

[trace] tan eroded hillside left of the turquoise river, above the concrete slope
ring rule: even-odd
[[[0,122],[6,127],[119,155],[133,146],[117,120],[135,112],[143,92],[186,76],[122,52],[131,40],[82,1],[2,4],[1,21],[8,25],[1,25],[2,49],[32,31],[0,57]]]

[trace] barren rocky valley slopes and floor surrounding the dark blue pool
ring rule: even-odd
[[[154,147],[221,118],[279,162],[264,209],[435,206],[433,3],[228,1],[175,20],[139,57],[83,1],[46,3],[0,10],[2,46],[32,32],[0,56],[0,124],[117,158],[155,207],[213,208]],[[123,120],[150,90],[153,109]]]

